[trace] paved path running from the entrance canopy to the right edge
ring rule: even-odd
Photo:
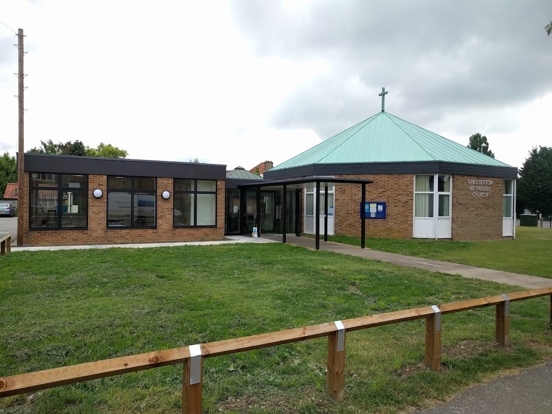
[[[265,235],[263,238],[269,238],[274,241],[282,241],[282,236]],[[315,248],[314,238],[286,236],[286,242],[290,245],[302,246],[306,248]],[[501,270],[485,269],[481,267],[467,266],[450,262],[441,262],[438,260],[424,259],[421,257],[404,256],[402,254],[379,252],[368,248],[362,249],[357,246],[342,245],[339,243],[320,242],[320,250],[350,254],[351,256],[364,257],[367,259],[376,259],[382,262],[391,262],[401,266],[417,267],[431,270],[432,272],[443,272],[450,274],[460,274],[465,278],[490,280],[491,282],[504,283],[507,285],[523,286],[528,289],[548,288],[552,286],[552,279],[529,276],[527,274],[502,272]],[[551,411],[552,412],[552,411]]]

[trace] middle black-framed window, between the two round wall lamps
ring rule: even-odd
[[[108,176],[108,229],[155,228],[157,223],[156,200],[156,178]]]

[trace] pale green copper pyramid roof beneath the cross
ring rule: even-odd
[[[509,167],[386,112],[332,136],[271,171],[309,164],[445,161]]]

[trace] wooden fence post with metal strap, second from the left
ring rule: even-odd
[[[345,397],[345,328],[341,321],[334,322],[337,331],[328,335],[326,389],[333,401]]]

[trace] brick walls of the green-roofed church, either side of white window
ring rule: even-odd
[[[387,218],[366,220],[367,237],[412,238],[413,174],[337,176],[367,178],[366,201],[385,201]],[[337,178],[336,177],[336,178]],[[492,181],[484,197],[470,190],[468,180]],[[493,177],[453,176],[452,240],[500,240],[502,236],[502,192],[504,180]],[[341,185],[335,190],[335,234],[360,236],[360,185]]]

